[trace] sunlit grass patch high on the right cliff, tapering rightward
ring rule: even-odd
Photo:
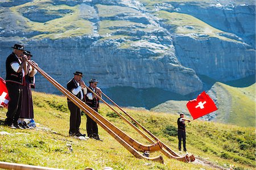
[[[200,39],[195,34],[203,34],[207,35],[207,37],[216,37],[221,40],[225,41],[236,41],[240,42],[237,40],[229,39],[224,36],[218,35],[219,33],[225,33],[219,29],[216,29],[207,23],[203,22],[200,19],[197,19],[191,15],[188,14],[181,14],[178,12],[167,12],[167,11],[158,11],[156,12],[159,18],[164,19],[164,23],[172,25],[174,27],[174,31],[177,34],[185,34],[185,35],[190,35],[195,39]],[[189,29],[189,27],[193,27],[193,29]],[[204,37],[205,39],[205,37]],[[242,43],[242,42],[241,42]]]

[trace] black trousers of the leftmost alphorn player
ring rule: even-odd
[[[19,114],[22,107],[22,85],[13,82],[6,82],[10,101],[6,113],[5,125],[18,124]]]

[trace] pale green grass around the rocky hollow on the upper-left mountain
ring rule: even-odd
[[[27,21],[28,31],[41,32],[39,35],[31,37],[31,39],[60,39],[64,37],[82,36],[92,33],[92,22],[80,18],[79,6],[67,5],[52,5],[51,1],[32,1],[23,5],[14,6],[10,9],[17,15],[22,15],[23,8],[37,6],[47,10],[47,14],[61,15],[61,18],[49,20],[45,23],[33,22],[28,18],[23,18]],[[59,14],[58,10],[71,10],[68,14]]]

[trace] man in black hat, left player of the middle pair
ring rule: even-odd
[[[68,91],[76,95],[80,100],[84,101],[84,94],[87,93],[84,82],[82,82],[82,73],[76,71],[73,73],[74,77],[69,80],[67,84]],[[80,124],[81,124],[81,110],[77,107],[71,100],[68,99],[68,109],[70,111],[70,120],[69,120],[69,136],[85,137],[85,134],[80,133]]]

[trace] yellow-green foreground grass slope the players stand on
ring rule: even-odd
[[[36,130],[13,130],[0,125],[0,131],[13,135],[1,135],[0,161],[41,165],[55,168],[84,169],[214,169],[200,163],[182,163],[163,155],[165,164],[135,158],[114,138],[99,128],[103,142],[88,139],[80,141],[68,137],[69,111],[63,96],[33,92]],[[176,119],[167,113],[125,110],[177,151]],[[4,120],[6,109],[0,110]],[[141,143],[148,143],[135,130],[123,123],[105,105],[100,114]],[[82,116],[81,131],[86,131],[86,117]],[[23,133],[23,134],[15,134]],[[236,169],[255,168],[255,128],[224,125],[213,122],[192,121],[187,126],[187,149],[204,162]],[[68,150],[71,144],[73,152]],[[160,155],[160,152],[151,156]],[[205,161],[207,160],[207,161]]]

